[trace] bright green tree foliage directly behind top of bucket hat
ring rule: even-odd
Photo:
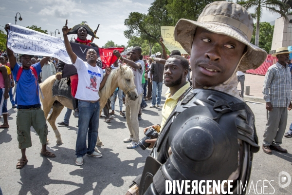
[[[202,10],[209,3],[216,0],[167,0],[166,5],[169,16],[173,20],[173,25],[180,19],[197,21]]]

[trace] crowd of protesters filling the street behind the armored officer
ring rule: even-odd
[[[6,25],[5,29],[9,29]],[[99,117],[104,118],[104,121],[109,123],[114,120],[115,111],[122,117],[126,118],[129,130],[129,136],[123,141],[129,143],[128,149],[133,149],[139,146],[139,120],[142,119],[142,112],[148,104],[150,108],[155,106],[162,108],[163,120],[160,125],[152,126],[158,132],[164,126],[164,123],[176,106],[178,99],[185,92],[185,90],[192,85],[192,78],[190,76],[190,61],[188,56],[182,55],[180,51],[173,50],[169,55],[166,54],[163,39],[162,43],[163,53],[157,52],[143,59],[141,47],[134,47],[122,56],[119,51],[114,50],[113,55],[117,57],[116,61],[110,65],[109,68],[102,70],[97,64],[98,57],[94,49],[87,52],[87,62],[82,61],[73,52],[68,34],[72,31],[68,29],[67,22],[62,29],[66,50],[71,58],[73,65],[77,69],[77,80],[71,77],[72,100],[73,100],[73,115],[78,118],[78,135],[76,140],[76,165],[83,164],[83,156],[101,157],[102,155],[94,150],[95,143],[98,136]],[[85,24],[80,24],[76,29],[73,29],[78,35],[75,42],[80,44],[88,44],[93,47],[97,45],[91,43],[86,39],[89,32]],[[267,101],[266,109],[268,110],[268,122],[264,134],[262,149],[267,154],[272,154],[271,150],[287,153],[286,149],[282,149],[282,137],[285,133],[287,123],[287,108],[291,110],[291,79],[286,79],[285,84],[277,78],[291,78],[291,70],[287,64],[289,53],[286,48],[279,50],[278,55],[275,55],[278,62],[270,67],[264,83],[264,99]],[[285,54],[285,55],[284,55]],[[91,73],[95,89],[101,90],[112,69],[119,68],[119,66],[127,65],[132,69],[134,74],[134,83],[138,92],[137,99],[130,101],[130,97],[125,95],[122,89],[117,88],[111,97],[108,99],[106,106],[103,108],[103,114],[99,116],[99,95],[98,90],[91,89],[90,80],[87,79],[88,74]],[[177,71],[171,70],[174,67]],[[21,149],[21,158],[17,164],[17,168],[23,168],[28,162],[26,148],[31,147],[30,126],[32,125],[39,135],[42,148],[40,154],[47,157],[55,157],[55,154],[46,149],[46,141],[48,134],[48,127],[46,125],[46,118],[41,109],[40,99],[38,93],[38,83],[44,82],[47,78],[55,75],[59,80],[62,76],[64,62],[51,57],[30,56],[26,54],[15,54],[9,48],[7,51],[1,51],[0,55],[0,115],[3,116],[4,122],[0,128],[9,128],[7,99],[10,98],[12,108],[23,110],[18,112],[17,126],[18,126],[18,147]],[[22,76],[16,80],[18,73]],[[37,75],[36,75],[36,74]],[[171,75],[171,77],[168,77]],[[244,73],[237,72],[238,81],[241,81]],[[277,77],[275,77],[277,76]],[[15,82],[18,82],[16,87]],[[37,81],[37,82],[36,82]],[[244,80],[243,80],[244,82]],[[36,84],[37,83],[37,84]],[[163,84],[169,87],[165,94],[166,100],[164,105],[161,103]],[[243,85],[243,84],[242,84]],[[78,86],[78,87],[77,87]],[[16,88],[16,96],[14,100],[13,88]],[[87,90],[87,89],[90,89]],[[278,92],[279,90],[282,90]],[[275,91],[275,92],[274,92]],[[280,94],[278,98],[271,97],[270,94]],[[284,96],[285,95],[285,96]],[[243,98],[243,87],[241,88],[241,98]],[[118,100],[118,101],[117,101]],[[118,102],[118,105],[116,103]],[[125,107],[125,109],[123,109]],[[110,112],[111,110],[111,112]],[[273,111],[273,112],[272,112]],[[66,115],[59,125],[68,126],[69,118],[72,114],[71,109],[67,109]],[[30,120],[27,116],[31,115]],[[279,117],[281,116],[281,117]],[[274,118],[277,121],[274,122]],[[82,122],[81,122],[82,121]],[[94,124],[94,125],[91,125]],[[21,126],[21,128],[20,128]],[[279,131],[277,131],[279,129]],[[145,131],[147,128],[145,129]],[[292,130],[285,134],[285,137],[292,137]],[[88,146],[86,145],[86,137],[88,135]],[[156,139],[146,140],[146,142],[155,143]]]

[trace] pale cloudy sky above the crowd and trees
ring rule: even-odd
[[[22,21],[17,22],[21,26],[37,25],[42,29],[55,34],[60,30],[68,19],[68,27],[87,21],[95,30],[100,24],[94,43],[103,46],[108,40],[116,44],[127,45],[128,39],[123,32],[127,29],[124,20],[130,12],[147,13],[150,3],[154,0],[2,0],[0,7],[0,25],[15,23],[17,12],[21,14]],[[249,10],[253,12],[254,10]],[[3,16],[5,15],[5,16]],[[19,18],[19,15],[18,15]],[[273,21],[279,15],[272,15],[264,10],[261,21]],[[4,28],[0,28],[3,30]],[[57,31],[56,31],[57,32]],[[90,37],[90,36],[89,36]],[[71,38],[71,35],[69,36]],[[76,38],[76,36],[75,36]]]

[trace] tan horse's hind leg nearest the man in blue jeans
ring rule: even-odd
[[[56,140],[57,144],[62,144],[63,143],[62,139],[61,139],[61,134],[58,131],[56,125],[55,125],[56,118],[60,115],[60,113],[63,110],[63,108],[64,108],[64,106],[62,104],[60,104],[59,102],[55,103],[53,105],[53,111],[52,111],[50,117],[48,118],[48,122],[50,123],[51,127],[53,128],[55,136],[57,138],[57,140]]]

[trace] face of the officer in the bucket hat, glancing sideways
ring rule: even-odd
[[[212,87],[228,80],[234,74],[245,47],[229,36],[198,27],[190,61],[193,87]]]

